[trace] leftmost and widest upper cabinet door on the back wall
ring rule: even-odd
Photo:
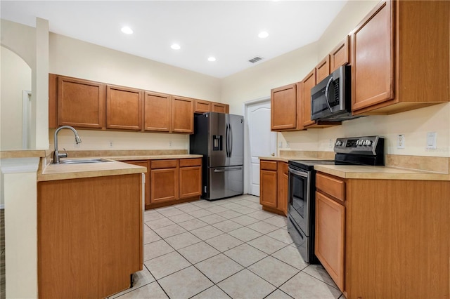
[[[105,128],[105,86],[58,77],[58,126]]]

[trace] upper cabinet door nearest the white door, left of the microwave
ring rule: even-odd
[[[271,90],[271,130],[297,128],[297,85]]]

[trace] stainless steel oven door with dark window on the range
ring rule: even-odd
[[[311,211],[310,181],[310,171],[300,171],[289,167],[288,214],[307,237],[311,235],[309,223],[311,216],[309,215]]]

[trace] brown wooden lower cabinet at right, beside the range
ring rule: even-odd
[[[449,181],[317,173],[316,189],[316,255],[346,298],[449,298]]]

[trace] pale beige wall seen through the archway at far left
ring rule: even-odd
[[[0,150],[22,149],[22,97],[31,91],[31,68],[13,51],[1,47]]]

